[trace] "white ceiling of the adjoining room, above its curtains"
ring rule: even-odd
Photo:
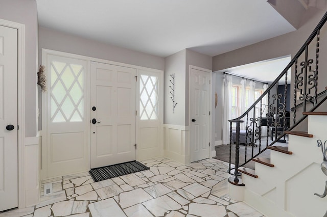
[[[291,57],[277,58],[274,60],[261,61],[222,70],[229,74],[272,83],[291,61]],[[290,84],[291,73],[288,71],[288,83]],[[285,76],[279,80],[279,84],[285,84]]]

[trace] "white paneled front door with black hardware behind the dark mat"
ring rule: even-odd
[[[91,63],[91,168],[136,159],[136,69]]]

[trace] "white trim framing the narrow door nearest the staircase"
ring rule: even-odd
[[[190,126],[190,120],[192,119],[192,117],[191,117],[191,112],[190,112],[190,110],[191,110],[191,90],[190,90],[190,84],[191,84],[191,69],[196,69],[196,70],[200,70],[200,71],[205,71],[205,72],[208,72],[208,73],[210,73],[209,74],[209,79],[211,80],[211,82],[209,83],[209,99],[211,99],[212,98],[212,78],[213,78],[213,72],[212,72],[212,70],[209,70],[209,69],[205,69],[205,68],[201,68],[201,67],[198,67],[198,66],[193,66],[193,65],[190,65],[190,67],[189,67],[189,126]],[[212,100],[209,100],[209,108],[210,108],[210,112],[211,112],[211,114],[213,113],[213,111],[212,111]],[[212,116],[210,115],[210,118],[209,118],[209,123],[208,123],[208,126],[209,126],[209,135],[208,135],[208,137],[209,138],[207,138],[208,139],[208,141],[210,142],[210,147],[209,147],[209,154],[208,154],[208,156],[209,156],[209,158],[211,158],[212,156],[212,152],[211,152],[211,149],[212,149],[212,147],[211,146],[213,146],[214,144],[213,144],[213,141],[212,141],[212,132],[211,132],[211,130],[212,130]],[[191,127],[190,127],[190,134],[192,133],[192,131],[191,131]],[[191,146],[191,142],[190,142],[190,146]],[[189,150],[191,151],[191,147],[189,148]],[[190,156],[191,156],[191,153],[190,153]]]

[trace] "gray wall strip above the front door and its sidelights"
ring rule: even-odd
[[[165,69],[165,59],[147,53],[69,35],[63,32],[39,28],[39,56],[41,48],[74,53],[153,69]]]

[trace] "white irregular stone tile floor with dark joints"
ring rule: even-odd
[[[4,216],[263,216],[229,199],[228,163],[204,159],[181,165],[159,157],[141,161],[150,170],[94,182],[80,173],[42,181],[40,204]],[[45,183],[53,194],[43,195]]]

